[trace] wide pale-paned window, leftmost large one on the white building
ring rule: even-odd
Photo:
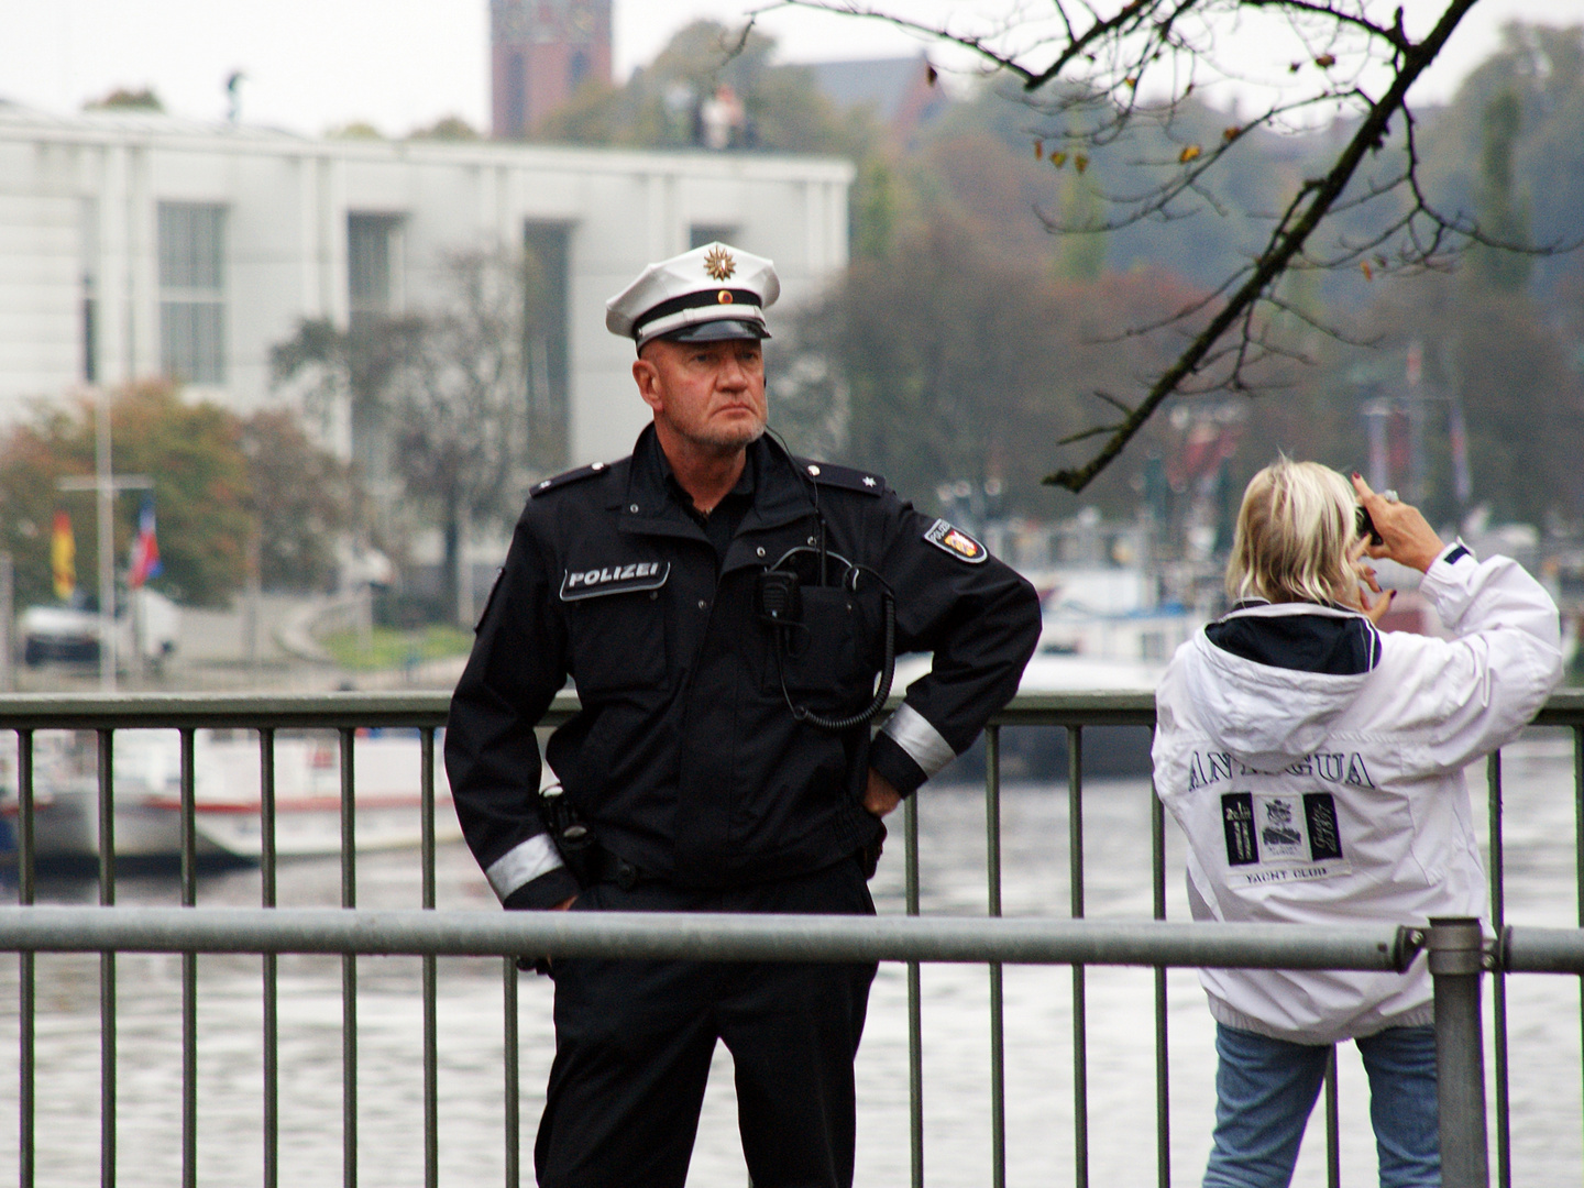
[[[160,369],[225,383],[225,208],[160,203]]]

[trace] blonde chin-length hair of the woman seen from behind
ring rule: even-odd
[[[1357,499],[1348,480],[1319,463],[1280,458],[1256,474],[1237,510],[1226,562],[1234,602],[1351,605],[1357,578],[1348,548],[1357,539]]]

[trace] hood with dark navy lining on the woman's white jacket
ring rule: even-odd
[[[1380,662],[1362,615],[1308,604],[1232,611],[1183,649],[1191,705],[1245,767],[1280,771],[1312,754]]]

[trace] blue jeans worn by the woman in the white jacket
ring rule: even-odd
[[[1370,1079],[1381,1188],[1440,1188],[1435,1028],[1394,1026],[1354,1041]],[[1286,1188],[1329,1045],[1217,1023],[1215,1147],[1204,1188]]]

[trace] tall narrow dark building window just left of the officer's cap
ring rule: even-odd
[[[539,470],[567,464],[567,271],[572,228],[529,222],[523,228],[526,317],[523,371],[527,379],[527,456]]]

